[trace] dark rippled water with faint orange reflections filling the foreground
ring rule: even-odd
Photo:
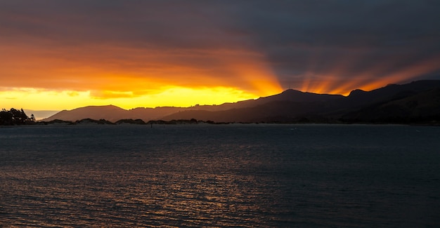
[[[440,227],[440,127],[0,128],[0,227]]]

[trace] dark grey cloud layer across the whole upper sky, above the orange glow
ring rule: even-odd
[[[434,74],[440,65],[432,63],[440,60],[440,3],[434,0],[0,1],[0,36],[18,45],[108,43],[188,55],[252,50],[284,88],[306,74],[341,80],[369,74],[373,81],[414,67],[418,73],[401,81],[440,78]]]

